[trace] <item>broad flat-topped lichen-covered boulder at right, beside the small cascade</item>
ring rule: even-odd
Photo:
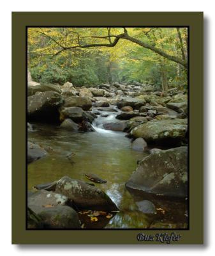
[[[177,144],[186,137],[187,123],[187,119],[151,120],[135,127],[130,136],[147,143]]]

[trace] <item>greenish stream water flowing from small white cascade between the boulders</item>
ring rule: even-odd
[[[116,113],[101,112],[94,120],[95,132],[70,132],[59,125],[33,124],[28,140],[39,144],[48,156],[29,164],[27,188],[61,179],[67,175],[72,179],[89,182],[84,173],[94,173],[108,182],[96,184],[115,202],[120,212],[108,223],[93,223],[89,228],[148,228],[152,221],[169,223],[167,228],[186,227],[186,204],[159,200],[156,207],[165,209],[165,214],[144,214],[138,211],[135,201],[144,200],[141,193],[132,193],[125,183],[137,167],[138,159],[146,152],[131,149],[126,133],[103,129],[105,122],[115,120]],[[71,160],[66,157],[73,152]]]

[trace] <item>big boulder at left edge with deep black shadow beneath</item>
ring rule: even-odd
[[[63,98],[57,92],[36,92],[27,97],[27,117],[30,120],[58,121]]]

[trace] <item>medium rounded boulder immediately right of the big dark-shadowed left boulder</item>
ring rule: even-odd
[[[71,96],[65,97],[64,108],[79,107],[84,110],[89,110],[93,106],[92,101],[88,97]]]

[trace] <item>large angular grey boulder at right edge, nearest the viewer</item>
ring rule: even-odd
[[[188,196],[188,148],[154,150],[138,162],[138,167],[126,183],[155,196]]]

